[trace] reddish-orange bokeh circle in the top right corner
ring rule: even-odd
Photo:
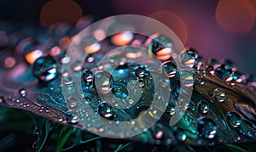
[[[218,1],[215,18],[219,27],[230,33],[247,33],[252,30],[255,9],[248,0]]]

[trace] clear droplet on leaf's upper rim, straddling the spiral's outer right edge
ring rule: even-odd
[[[180,53],[180,59],[183,65],[193,67],[196,63],[198,54],[195,53],[195,50],[192,48],[185,48],[183,52]]]

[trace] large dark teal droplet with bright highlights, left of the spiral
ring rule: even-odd
[[[38,58],[32,66],[34,76],[38,77],[41,82],[54,80],[57,76],[56,68],[55,60],[50,56]]]

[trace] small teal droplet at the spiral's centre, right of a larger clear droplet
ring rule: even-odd
[[[116,83],[116,82],[113,83],[112,92],[114,96],[119,99],[126,99],[129,96],[127,88],[123,84]]]

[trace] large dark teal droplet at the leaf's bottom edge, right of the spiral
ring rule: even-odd
[[[203,138],[214,138],[217,133],[217,126],[211,119],[201,117],[197,120],[197,131]]]

